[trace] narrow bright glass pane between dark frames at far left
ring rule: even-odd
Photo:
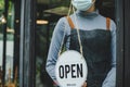
[[[6,62],[5,80],[13,78],[13,55],[14,54],[14,4],[9,1],[8,26],[6,26]]]

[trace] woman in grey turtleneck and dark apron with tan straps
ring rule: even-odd
[[[47,71],[54,82],[56,82],[54,67],[62,40],[67,38],[66,48],[79,51],[76,33],[78,26],[83,57],[88,64],[88,77],[82,87],[115,87],[116,25],[99,13],[95,7],[98,1],[72,0],[77,9],[76,13],[57,22],[47,60]]]

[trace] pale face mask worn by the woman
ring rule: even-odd
[[[87,11],[94,2],[92,0],[72,0],[72,3],[77,10]]]

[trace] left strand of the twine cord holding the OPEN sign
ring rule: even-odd
[[[68,10],[67,16],[70,15],[72,8],[73,8],[73,5],[72,5],[72,1],[70,1],[70,5],[69,5],[69,10]],[[66,29],[66,25],[64,25],[64,35],[63,35],[62,44],[61,44],[61,47],[60,47],[58,57],[60,57],[61,53],[62,53],[62,48],[63,48],[63,45],[64,45],[65,29]]]

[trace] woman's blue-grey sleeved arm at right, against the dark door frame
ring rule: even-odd
[[[102,87],[116,87],[116,25],[112,23],[112,70],[108,72]]]

